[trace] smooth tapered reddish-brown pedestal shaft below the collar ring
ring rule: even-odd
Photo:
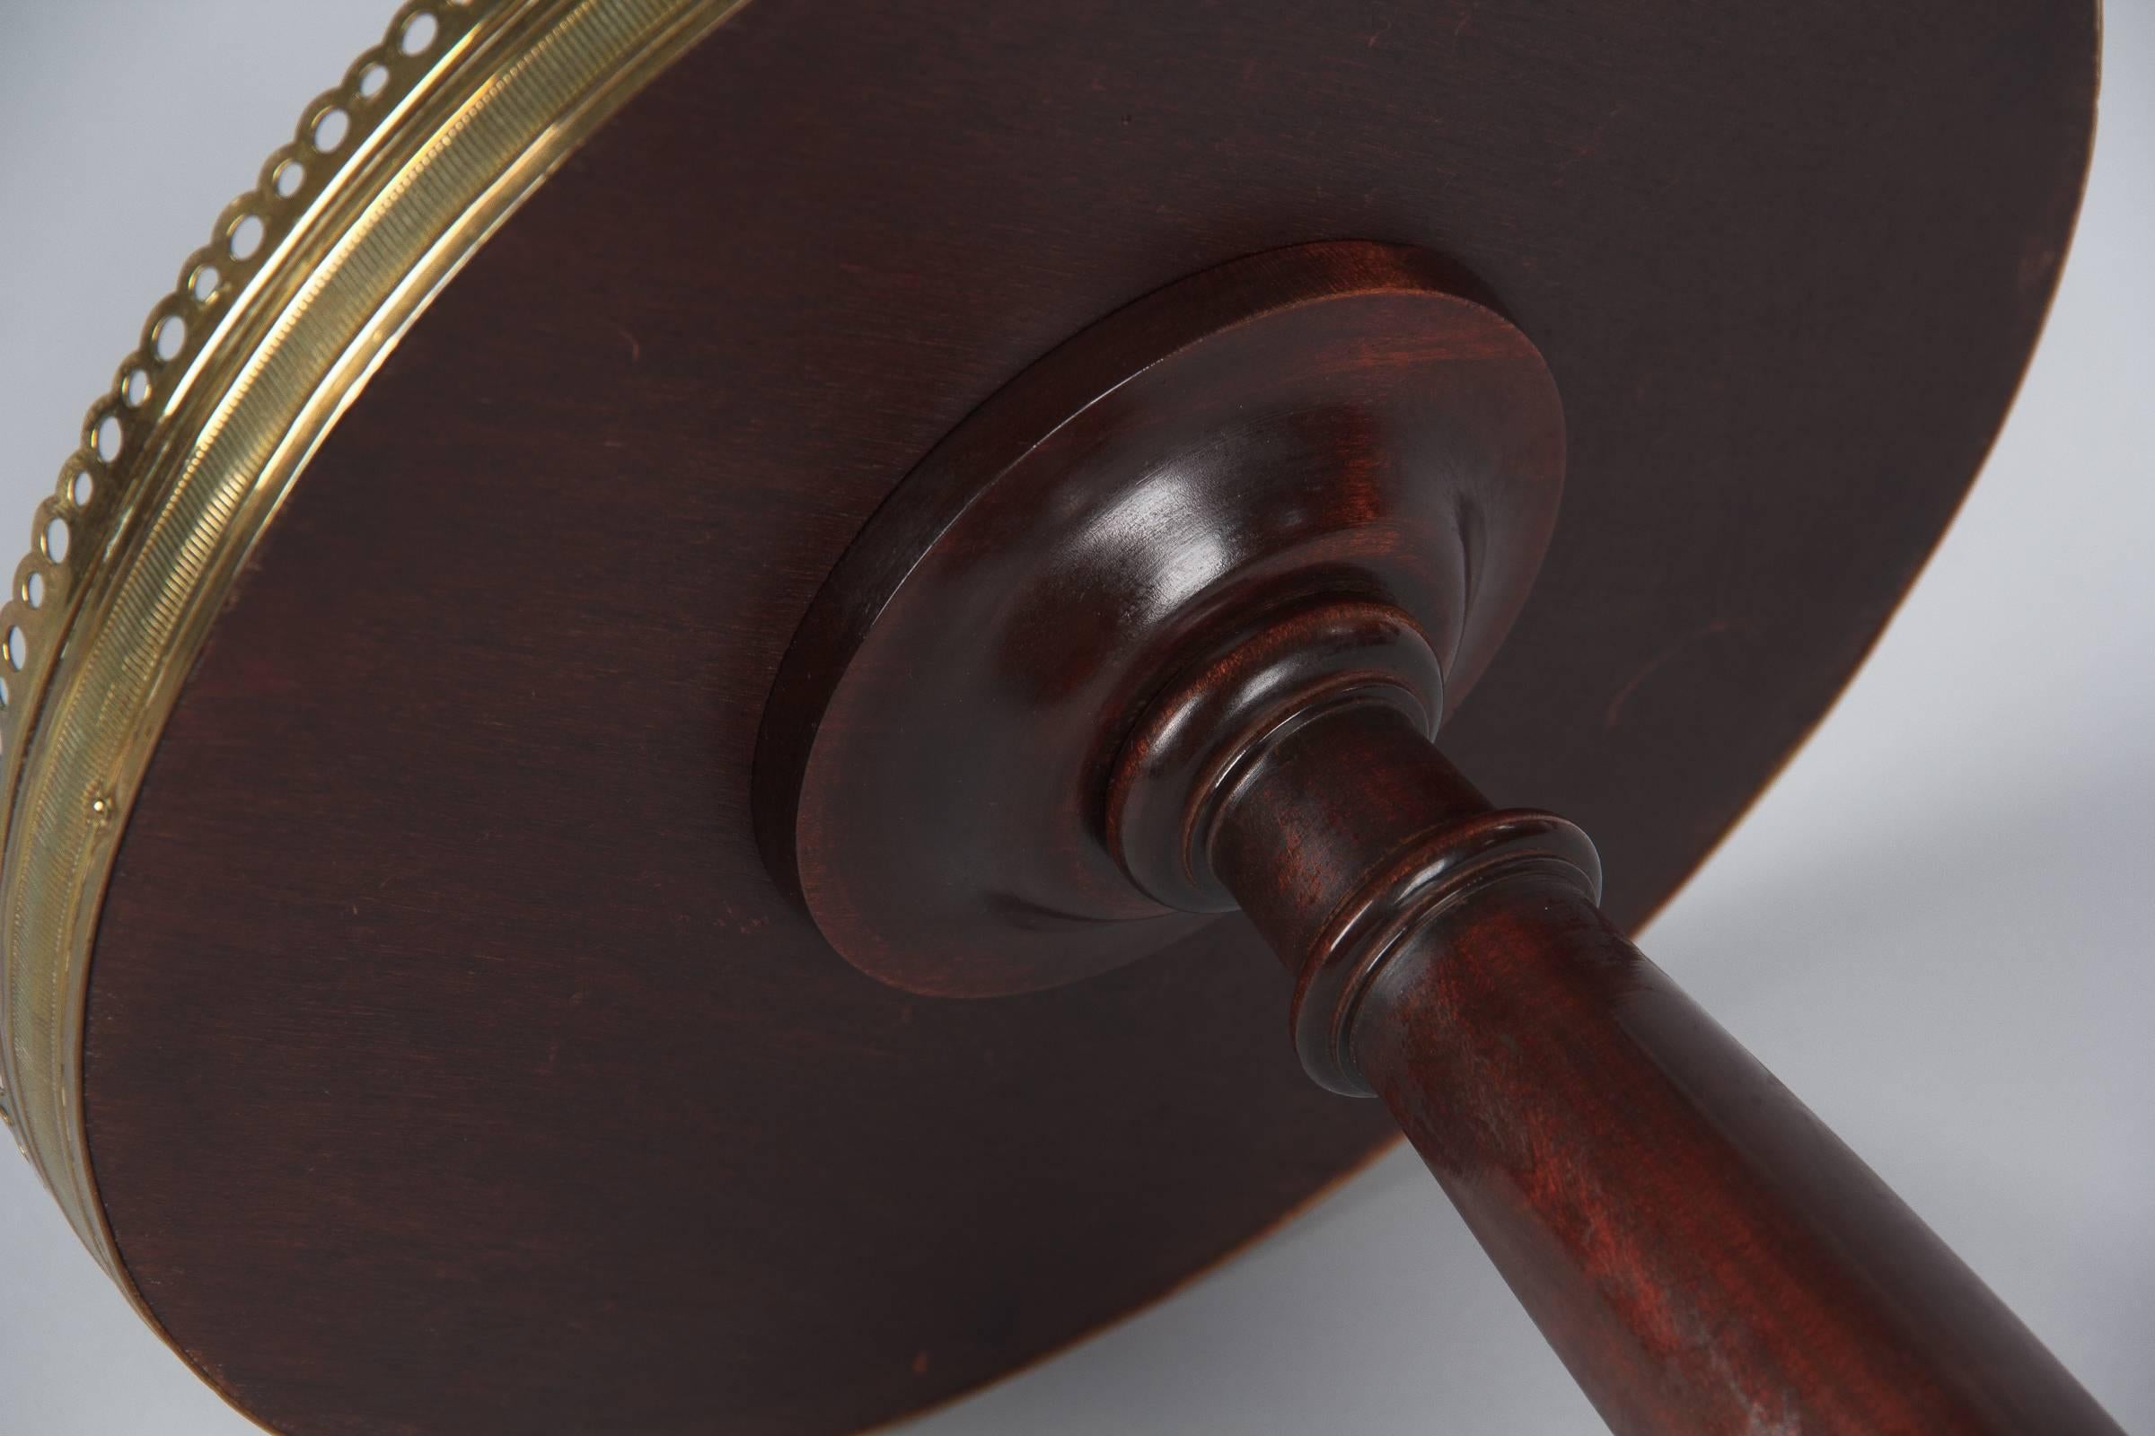
[[[1612,1430],[2121,1436],[1577,887],[1427,924],[1353,1051]]]

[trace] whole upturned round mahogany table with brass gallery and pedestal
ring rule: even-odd
[[[2093,86],[2047,0],[407,6],[39,512],[0,1111],[287,1436],[866,1430],[1401,1132],[1618,1432],[2114,1434],[1627,939],[1961,502]]]

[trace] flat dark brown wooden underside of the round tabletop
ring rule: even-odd
[[[86,1040],[151,1309],[293,1434],[845,1432],[1265,1229],[1386,1120],[1297,1070],[1241,919],[929,1001],[765,876],[756,726],[838,555],[1131,299],[1444,252],[1571,437],[1446,751],[1593,831],[1629,928],[1983,459],[2093,58],[2093,6],[2008,0],[756,0],[390,355],[190,678]]]

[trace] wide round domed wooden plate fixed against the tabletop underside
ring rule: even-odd
[[[1468,695],[1565,478],[1547,366],[1470,295],[1401,245],[1252,254],[1090,325],[935,446],[763,710],[756,831],[832,947],[909,992],[1000,997],[1231,909],[1131,887],[1099,799],[1134,715],[1252,614],[1390,605],[1424,721]],[[1172,715],[1202,743],[1222,721],[1243,719]]]

